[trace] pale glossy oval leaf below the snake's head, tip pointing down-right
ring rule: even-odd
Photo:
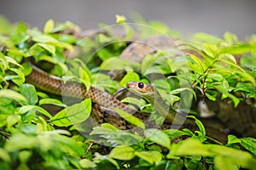
[[[168,135],[158,129],[149,128],[145,130],[145,136],[155,142],[156,144],[160,144],[166,148],[170,148],[171,139],[169,139]]]

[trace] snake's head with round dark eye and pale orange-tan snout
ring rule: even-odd
[[[145,99],[154,96],[153,86],[144,82],[127,82],[126,88],[128,88],[131,93],[143,96]]]

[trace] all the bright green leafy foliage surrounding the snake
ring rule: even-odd
[[[142,65],[138,65],[117,57],[128,45],[125,40],[133,37],[135,31],[125,23],[124,16],[116,18],[118,26],[129,32],[123,39],[111,31],[98,33],[94,40],[79,37],[75,34],[80,31],[79,26],[71,22],[48,20],[44,31],[39,31],[22,22],[12,25],[1,18],[9,31],[0,29],[0,169],[256,167],[255,139],[230,135],[225,145],[211,144],[203,124],[195,116],[190,117],[199,131],[160,130],[146,128],[136,116],[118,111],[119,116],[140,130],[130,133],[102,123],[84,137],[79,133],[84,130],[79,125],[90,117],[90,99],[70,105],[26,83],[26,76],[32,71],[26,61],[34,60],[50,74],[63,77],[64,81],[79,81],[87,89],[94,86],[110,94],[124,87],[126,82],[152,82],[172,106],[182,102],[183,91],[193,94],[195,101],[200,95],[213,101],[221,95],[221,99],[230,99],[235,107],[246,99],[255,101],[255,36],[241,42],[230,32],[223,38],[198,33],[189,42],[183,42],[180,49],[192,50],[200,56],[195,53],[176,56],[162,51],[146,56]],[[160,22],[148,25],[177,37],[176,32],[173,35],[174,31]],[[160,33],[157,29],[152,32],[150,27],[140,27],[138,32],[141,37],[148,37]],[[74,59],[73,55],[78,56]],[[189,65],[186,67],[189,71],[177,66],[183,63]],[[125,69],[125,77],[120,81],[106,73],[121,69]],[[164,75],[164,78],[149,80],[148,77],[155,74]],[[192,88],[183,87],[180,82],[192,83]],[[137,105],[142,112],[154,111],[145,99],[131,96],[122,101]],[[47,105],[55,105],[61,111],[54,115]],[[181,140],[173,143],[177,138]],[[99,141],[106,146],[98,144]]]

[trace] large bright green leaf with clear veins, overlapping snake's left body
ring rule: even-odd
[[[84,99],[81,103],[68,106],[58,112],[50,119],[50,122],[58,127],[68,127],[70,125],[84,122],[90,116],[90,111],[91,100]]]

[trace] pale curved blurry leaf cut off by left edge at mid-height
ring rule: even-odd
[[[28,103],[27,99],[23,95],[15,92],[13,90],[10,90],[10,89],[0,90],[0,97],[1,98],[15,99],[16,101],[18,101],[20,103],[20,105],[27,105],[27,103]]]

